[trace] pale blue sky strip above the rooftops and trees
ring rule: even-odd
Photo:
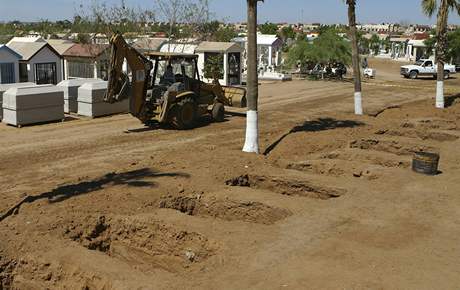
[[[40,19],[72,19],[75,7],[93,0],[0,0],[0,21]],[[98,0],[118,4],[121,0]],[[244,21],[246,0],[210,0],[219,20]],[[429,24],[435,19],[423,15],[421,0],[358,0],[358,21],[361,23],[405,22]],[[155,0],[125,0],[127,6],[153,9]],[[321,22],[346,23],[343,0],[265,0],[259,4],[259,22]],[[452,13],[451,24],[460,24]]]

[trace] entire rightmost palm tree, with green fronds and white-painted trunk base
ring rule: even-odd
[[[438,2],[440,2],[438,4]],[[458,0],[422,0],[423,12],[433,16],[438,8],[436,24],[436,62],[438,65],[436,86],[436,108],[444,108],[444,63],[446,62],[447,19],[449,10],[457,10],[460,15],[460,1]]]

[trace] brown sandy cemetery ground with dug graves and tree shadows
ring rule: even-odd
[[[263,84],[260,155],[239,110],[0,125],[0,289],[458,289],[460,80],[436,110],[435,81],[370,65],[365,116],[350,82]]]

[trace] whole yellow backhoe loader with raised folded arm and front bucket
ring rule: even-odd
[[[200,80],[198,55],[182,53],[142,54],[126,43],[120,34],[110,40],[112,56],[106,102],[130,98],[130,113],[148,124],[169,123],[177,129],[190,129],[196,121],[211,115],[224,120],[225,107],[246,106],[246,90]],[[131,77],[123,72],[126,59]]]

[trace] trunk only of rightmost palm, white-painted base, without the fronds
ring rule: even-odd
[[[437,86],[436,86],[436,108],[444,108],[444,63],[446,58],[446,37],[447,37],[447,17],[449,14],[449,5],[447,0],[441,0],[438,11],[438,20],[436,26],[436,62],[437,68]]]

